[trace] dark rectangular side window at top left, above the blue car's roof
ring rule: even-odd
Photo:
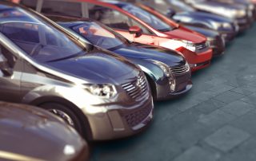
[[[82,4],[81,2],[44,1],[42,13],[80,18],[82,17]]]

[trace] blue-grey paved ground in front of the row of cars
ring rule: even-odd
[[[255,161],[256,24],[232,41],[193,89],[155,103],[146,132],[94,143],[91,161]]]

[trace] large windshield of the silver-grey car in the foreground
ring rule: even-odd
[[[36,14],[0,5],[0,32],[36,61],[46,62],[84,53],[84,46]]]

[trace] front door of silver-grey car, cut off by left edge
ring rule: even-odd
[[[22,61],[0,44],[0,100],[19,102]]]

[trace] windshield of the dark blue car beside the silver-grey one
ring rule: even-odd
[[[96,22],[83,22],[78,26],[73,26],[71,29],[85,37],[93,45],[103,49],[113,49],[126,43],[124,38],[103,28]]]

